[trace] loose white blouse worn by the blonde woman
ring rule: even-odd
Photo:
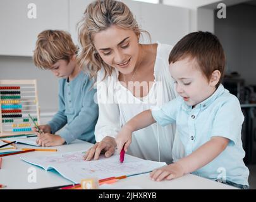
[[[118,81],[119,71],[114,70],[104,80],[104,70],[97,74],[97,102],[99,119],[95,126],[96,141],[106,136],[116,137],[121,127],[143,110],[152,109],[156,105],[176,97],[174,82],[169,73],[168,57],[172,46],[157,43],[157,54],[154,66],[154,84],[147,96],[134,97],[125,86]],[[133,133],[128,153],[130,155],[171,163],[184,156],[183,145],[176,135],[175,124],[162,127],[157,123]]]

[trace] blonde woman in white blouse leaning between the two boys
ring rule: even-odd
[[[176,97],[168,69],[172,47],[140,44],[142,32],[145,31],[140,30],[126,4],[114,0],[89,4],[78,25],[80,65],[97,77],[99,104],[97,143],[87,151],[85,160],[97,160],[100,153],[113,155],[121,126],[143,110]],[[128,153],[171,163],[183,156],[183,146],[178,136],[174,138],[175,132],[174,124],[164,128],[152,124],[136,131]]]

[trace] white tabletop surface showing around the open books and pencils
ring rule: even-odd
[[[52,146],[50,148],[58,149],[58,153],[68,151],[87,150],[92,144],[84,141],[76,140],[70,145]],[[29,145],[17,144],[20,148],[41,148]],[[0,169],[0,184],[7,187],[1,189],[39,189],[44,187],[63,186],[72,184],[59,174],[46,171],[40,167],[24,162],[20,157],[36,157],[42,155],[52,155],[53,151],[33,151],[21,153],[18,155],[10,155],[3,158],[3,164]],[[28,182],[31,174],[28,172],[30,168],[36,169],[36,181]],[[109,188],[114,189],[235,189],[235,187],[227,186],[219,182],[214,182],[203,177],[187,174],[172,181],[154,182],[149,178],[149,174],[135,175],[126,179],[121,179]]]

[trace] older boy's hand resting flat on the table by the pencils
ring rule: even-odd
[[[44,133],[37,134],[36,143],[41,146],[58,146],[63,145],[65,140],[58,134]]]

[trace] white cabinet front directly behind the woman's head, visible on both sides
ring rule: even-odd
[[[92,0],[70,1],[70,32],[76,43],[78,42],[76,25],[90,2]],[[173,45],[190,32],[190,9],[188,8],[131,0],[123,0],[123,2],[131,9],[138,25],[150,33],[152,42],[159,41]]]

